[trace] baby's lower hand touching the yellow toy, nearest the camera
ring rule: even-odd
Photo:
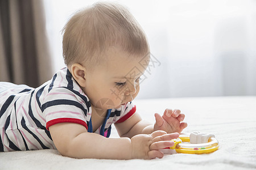
[[[133,159],[155,159],[163,158],[163,152],[159,150],[174,146],[171,139],[179,137],[179,133],[167,134],[165,131],[158,130],[153,133],[138,134],[131,138],[132,158]]]

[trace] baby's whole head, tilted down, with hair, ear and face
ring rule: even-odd
[[[110,100],[108,105],[118,108],[137,96],[139,76],[146,70],[142,63],[148,63],[150,48],[141,26],[125,7],[95,3],[76,12],[63,33],[65,64],[92,105]]]

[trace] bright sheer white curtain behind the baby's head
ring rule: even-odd
[[[95,1],[46,0],[55,70],[60,30]],[[256,95],[256,1],[118,1],[147,34],[156,64],[138,98]]]

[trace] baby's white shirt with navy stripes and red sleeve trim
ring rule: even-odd
[[[133,103],[109,109],[94,132],[109,137],[111,125],[135,113]],[[0,82],[0,151],[56,149],[49,126],[73,122],[92,132],[88,97],[65,67],[38,88]]]

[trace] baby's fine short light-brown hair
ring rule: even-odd
[[[63,58],[67,66],[92,67],[105,50],[118,46],[123,52],[145,55],[149,46],[143,29],[127,8],[98,2],[75,13],[63,28]]]

